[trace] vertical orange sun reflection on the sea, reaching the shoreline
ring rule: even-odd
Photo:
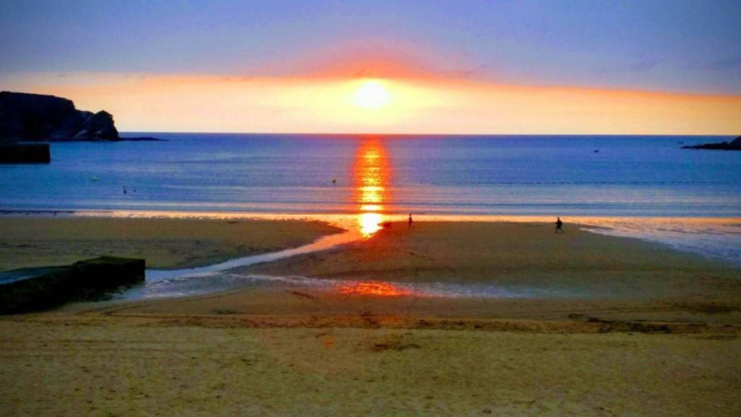
[[[373,137],[360,144],[353,167],[353,204],[358,204],[358,226],[364,238],[381,230],[384,204],[391,201],[391,172],[382,142]]]

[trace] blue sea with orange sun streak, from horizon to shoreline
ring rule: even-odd
[[[361,216],[591,224],[741,264],[741,153],[730,136],[132,132],[0,165],[0,212]],[[365,230],[363,230],[365,228]]]

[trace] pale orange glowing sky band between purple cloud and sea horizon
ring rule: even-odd
[[[46,73],[10,77],[3,90],[53,94],[113,113],[122,131],[462,134],[741,133],[741,96],[496,84],[399,70],[379,78],[390,99],[353,101],[362,82],[312,76],[139,76]],[[8,82],[9,81],[9,82]]]

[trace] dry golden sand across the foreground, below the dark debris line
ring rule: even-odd
[[[0,319],[4,416],[738,416],[736,333]]]

